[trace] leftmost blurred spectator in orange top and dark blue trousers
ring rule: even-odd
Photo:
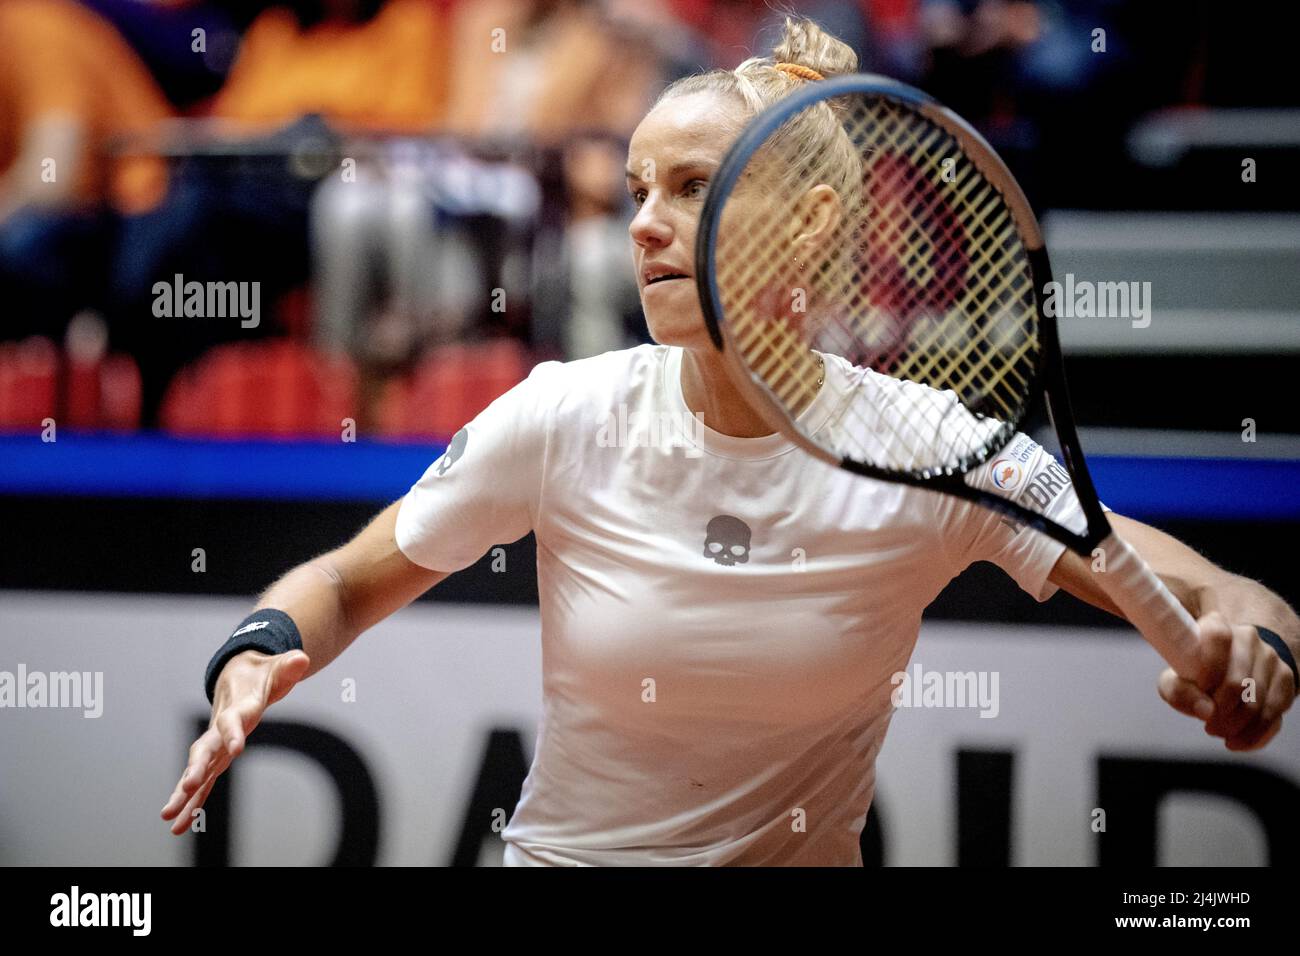
[[[60,336],[99,304],[117,213],[153,207],[155,157],[105,160],[172,113],[112,26],[72,0],[0,0],[0,336]]]

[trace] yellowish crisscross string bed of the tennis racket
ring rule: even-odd
[[[1015,222],[946,130],[885,100],[862,98],[842,112],[861,185],[829,243],[838,261],[823,258],[802,272],[790,255],[800,196],[816,185],[807,168],[784,170],[788,187],[763,202],[727,211],[716,260],[733,341],[792,414],[818,390],[812,349],[948,393],[924,401],[907,389],[888,410],[837,401],[831,415],[850,427],[826,429],[822,441],[835,434],[835,454],[876,467],[965,470],[1005,441],[1002,425],[1023,415],[1034,380],[1032,276]],[[779,140],[772,137],[766,163]],[[889,442],[861,438],[881,431]]]

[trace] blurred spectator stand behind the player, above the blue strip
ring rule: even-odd
[[[1063,324],[1080,362],[1300,351],[1300,109],[1256,5],[789,7],[1066,211],[1046,216],[1058,273],[1152,282],[1150,328]],[[445,438],[537,360],[647,341],[627,139],[667,81],[733,66],[779,18],[0,0],[0,428]],[[1134,401],[1158,405],[1160,377]]]

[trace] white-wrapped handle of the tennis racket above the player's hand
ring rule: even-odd
[[[1106,555],[1106,570],[1098,575],[1102,591],[1178,676],[1195,682],[1200,670],[1196,620],[1119,535],[1110,532],[1100,548]]]

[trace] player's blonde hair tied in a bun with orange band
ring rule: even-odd
[[[708,70],[670,83],[654,105],[679,96],[711,92],[731,98],[740,107],[744,124],[805,83],[829,79],[858,69],[858,55],[842,40],[811,20],[785,18],[781,38],[768,56],[751,56],[734,70]],[[862,160],[845,131],[842,107],[833,99],[819,100],[786,120],[763,146],[776,161],[783,182],[780,193],[790,196],[818,183],[835,190],[846,219],[862,202]],[[848,263],[831,252],[816,263],[814,278],[835,289],[845,278]]]

